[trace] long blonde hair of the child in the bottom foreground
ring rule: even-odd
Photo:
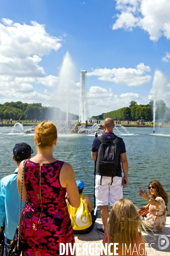
[[[135,245],[136,248],[139,248],[140,243],[145,243],[141,228],[146,232],[146,228],[150,229],[150,224],[142,221],[139,212],[137,212],[137,208],[134,206],[132,201],[128,199],[119,199],[116,201],[111,209],[111,214],[106,228],[108,244],[119,243],[119,255],[125,255],[123,254],[125,251],[122,251],[122,244],[124,248],[126,244],[127,249],[131,244],[131,250],[133,250]],[[141,235],[139,235],[139,232]],[[114,252],[113,245],[111,246],[111,252]],[[126,251],[126,256],[130,255],[130,250],[129,252]],[[137,256],[139,254],[134,251],[133,255]]]

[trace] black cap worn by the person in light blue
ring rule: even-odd
[[[23,161],[28,159],[32,153],[33,150],[31,146],[25,142],[15,144],[13,148],[14,159],[16,161]],[[16,158],[16,156],[19,156],[20,158]]]

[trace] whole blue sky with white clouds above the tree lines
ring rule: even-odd
[[[169,60],[169,0],[0,1],[0,103],[65,111],[68,97],[79,114],[82,69],[89,117],[131,100],[170,107]]]

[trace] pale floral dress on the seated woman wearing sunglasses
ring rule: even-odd
[[[144,221],[147,221],[153,228],[153,231],[162,233],[166,224],[167,211],[164,200],[161,197],[155,198],[158,201],[158,206],[149,205],[149,211],[153,212],[156,215],[162,215],[161,217],[155,216],[151,213],[147,213],[144,217]]]

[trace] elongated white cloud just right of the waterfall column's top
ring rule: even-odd
[[[97,68],[91,73],[87,73],[87,76],[98,76],[99,80],[115,82],[115,84],[127,84],[128,86],[140,86],[149,83],[151,76],[146,75],[141,69],[150,71],[150,67],[144,66],[143,63],[138,66],[140,69],[125,67],[117,69]]]

